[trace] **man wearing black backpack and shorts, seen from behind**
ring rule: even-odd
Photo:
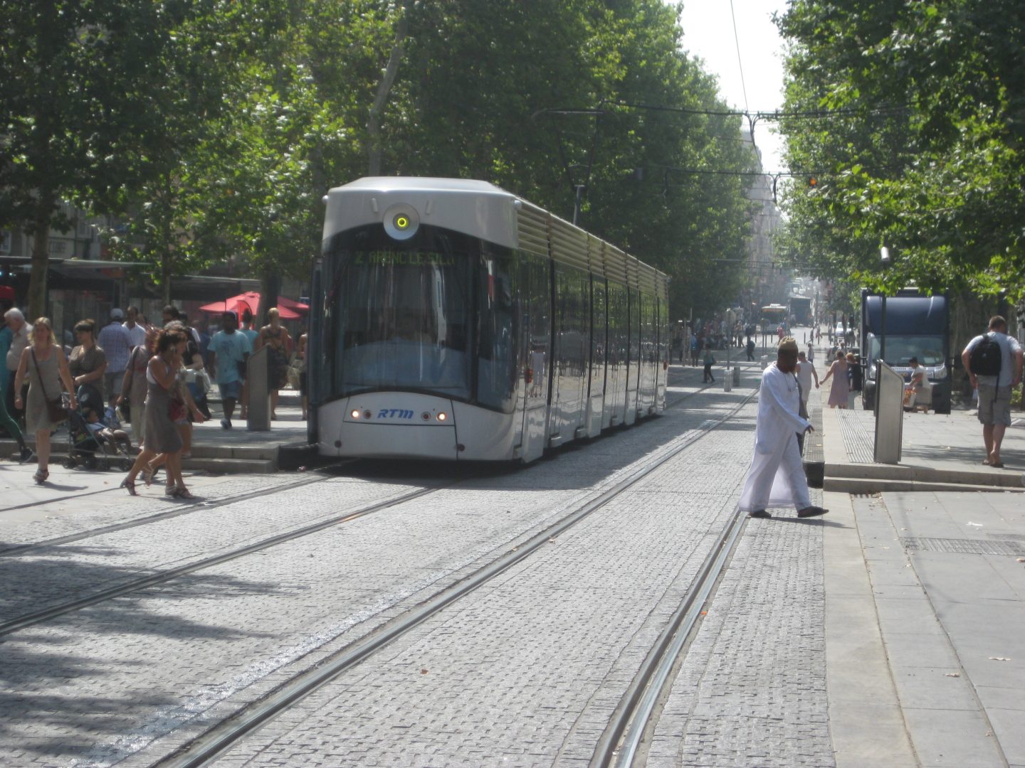
[[[989,321],[989,333],[976,336],[965,347],[961,362],[979,390],[979,421],[986,443],[982,463],[1002,468],[1000,443],[1011,426],[1011,390],[1022,380],[1021,345],[1008,336],[1008,322],[997,314]]]

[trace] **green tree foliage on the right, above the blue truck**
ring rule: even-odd
[[[795,0],[780,247],[827,278],[1025,296],[1025,8],[1013,0]],[[879,247],[894,254],[883,272]]]

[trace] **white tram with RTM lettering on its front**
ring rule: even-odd
[[[530,462],[664,409],[662,272],[484,181],[363,178],[325,202],[322,455]]]

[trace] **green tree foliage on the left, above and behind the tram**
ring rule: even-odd
[[[121,214],[112,252],[158,264],[165,289],[228,258],[308,273],[320,199],[366,174],[373,142],[383,173],[486,179],[567,219],[586,184],[581,224],[672,274],[681,315],[734,303],[745,279],[724,268],[742,261],[749,213],[739,119],[628,105],[724,109],[662,0],[34,5],[0,0],[22,46],[2,59],[18,77],[0,85],[15,116],[0,202],[16,198],[18,222],[41,188]],[[50,48],[84,42],[44,75],[25,41],[46,38],[51,6],[69,15]]]

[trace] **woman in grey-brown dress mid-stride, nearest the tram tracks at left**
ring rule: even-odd
[[[181,368],[181,353],[186,347],[184,334],[163,330],[157,335],[154,355],[147,365],[146,380],[146,437],[142,451],[121,486],[135,496],[135,477],[158,454],[167,457],[166,496],[192,499],[192,494],[181,479],[181,436],[171,418],[171,390],[175,386],[178,369]]]

